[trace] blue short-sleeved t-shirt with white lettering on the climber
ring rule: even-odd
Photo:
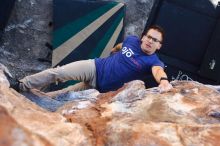
[[[142,80],[151,73],[152,66],[164,67],[157,55],[147,55],[141,50],[137,36],[127,37],[122,49],[107,57],[95,59],[96,86],[100,92],[113,91],[132,80]]]

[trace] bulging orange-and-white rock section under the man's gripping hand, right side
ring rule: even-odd
[[[196,82],[173,84],[160,94],[133,81],[87,108],[72,106],[65,117],[85,127],[93,145],[219,145],[219,93]]]

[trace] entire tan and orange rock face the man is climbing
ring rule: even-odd
[[[13,129],[26,145],[220,145],[220,94],[197,82],[175,81],[163,94],[141,81],[105,94],[62,92],[52,99],[38,93],[44,95],[35,99],[40,106],[59,103],[50,112],[8,88],[3,78],[0,73],[0,145],[18,141],[8,134]]]

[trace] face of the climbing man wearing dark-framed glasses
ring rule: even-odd
[[[161,47],[162,34],[155,29],[150,29],[141,39],[141,49],[148,55],[153,54]]]

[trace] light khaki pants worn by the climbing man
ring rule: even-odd
[[[42,89],[57,81],[65,82],[68,80],[82,81],[74,85],[75,91],[85,90],[96,87],[96,67],[95,60],[82,60],[69,63],[67,65],[50,68],[34,75],[26,76],[20,80],[20,89]]]

